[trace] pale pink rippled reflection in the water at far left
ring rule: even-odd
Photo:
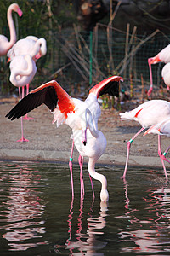
[[[7,199],[3,202],[6,207],[2,211],[3,218],[8,224],[1,229],[6,230],[3,238],[9,241],[9,250],[37,247],[39,243],[26,241],[42,237],[45,233],[44,221],[35,220],[42,216],[45,208],[40,200],[40,192],[37,191],[39,180],[40,173],[32,172],[27,165],[17,165],[14,171],[8,171]]]

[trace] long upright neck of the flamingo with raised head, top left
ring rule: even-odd
[[[16,32],[15,32],[15,28],[14,28],[12,11],[13,11],[13,7],[9,6],[8,12],[7,12],[8,27],[9,27],[9,32],[10,32],[10,41],[8,42],[8,49],[10,49],[16,42]]]

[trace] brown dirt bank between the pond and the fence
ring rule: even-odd
[[[5,118],[15,104],[16,99],[13,97],[0,99],[0,160],[68,161],[71,154],[71,129],[67,125],[60,125],[59,128],[55,124],[52,125],[53,115],[46,106],[34,109],[28,114],[33,120],[24,120],[25,137],[29,142],[16,142],[20,139],[20,119],[11,121]],[[98,162],[123,167],[126,160],[126,143],[139,129],[140,126],[136,122],[121,121],[116,110],[102,109],[99,130],[107,139],[107,147]],[[168,147],[169,139],[162,137],[161,143],[164,150]],[[76,162],[77,157],[75,148]],[[161,167],[156,135],[143,137],[141,134],[135,139],[131,147],[129,165]]]

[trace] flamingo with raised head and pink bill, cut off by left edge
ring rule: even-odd
[[[6,38],[3,35],[0,35],[0,56],[6,55],[8,50],[16,42],[16,32],[15,32],[15,28],[14,28],[12,11],[18,13],[19,16],[22,15],[22,11],[17,3],[13,3],[8,7],[7,20],[8,20],[8,26],[9,26],[9,31],[10,31],[10,41],[8,42],[8,38]]]

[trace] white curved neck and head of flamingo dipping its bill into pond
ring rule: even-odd
[[[109,193],[107,191],[107,180],[103,174],[100,174],[95,171],[95,162],[96,160],[94,158],[89,158],[88,161],[88,172],[91,177],[93,177],[96,180],[99,180],[101,183],[101,192],[100,192],[100,199],[101,201],[108,201],[109,200]]]

